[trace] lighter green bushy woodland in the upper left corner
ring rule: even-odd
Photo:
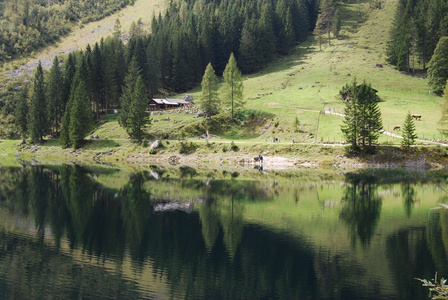
[[[80,25],[108,16],[134,0],[0,2],[0,64],[51,44]]]

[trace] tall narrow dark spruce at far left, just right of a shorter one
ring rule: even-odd
[[[42,64],[39,61],[33,80],[33,93],[30,103],[30,137],[33,142],[42,142],[48,132],[47,101]]]

